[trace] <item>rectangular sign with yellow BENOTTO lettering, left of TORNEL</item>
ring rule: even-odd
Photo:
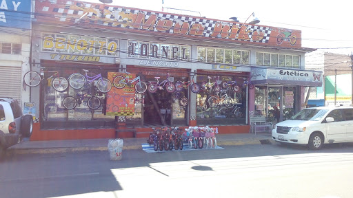
[[[73,34],[43,34],[43,52],[117,56],[119,40]]]

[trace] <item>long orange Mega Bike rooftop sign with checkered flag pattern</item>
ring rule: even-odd
[[[36,3],[37,20],[43,23],[81,25],[87,28],[176,34],[197,39],[226,39],[277,47],[301,47],[301,31],[220,21],[101,3],[68,0],[43,0]],[[50,17],[52,16],[52,17]],[[56,20],[54,20],[56,19]]]

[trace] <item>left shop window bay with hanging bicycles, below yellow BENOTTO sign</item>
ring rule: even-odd
[[[116,72],[119,65],[41,60],[32,67],[41,68],[46,82],[40,86],[39,118],[42,130],[114,128],[114,116],[106,115],[108,93],[101,90],[97,83],[100,79],[107,79],[109,72]],[[57,82],[53,82],[55,78],[50,78],[53,74],[63,79],[61,90],[54,89],[53,83]],[[72,74],[82,74],[87,83],[79,89],[72,87]]]

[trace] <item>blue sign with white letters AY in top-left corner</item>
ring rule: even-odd
[[[0,0],[0,26],[30,29],[30,0]]]

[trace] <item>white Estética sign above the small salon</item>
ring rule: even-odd
[[[312,72],[299,69],[251,69],[251,80],[254,84],[285,84],[321,87],[322,72]]]

